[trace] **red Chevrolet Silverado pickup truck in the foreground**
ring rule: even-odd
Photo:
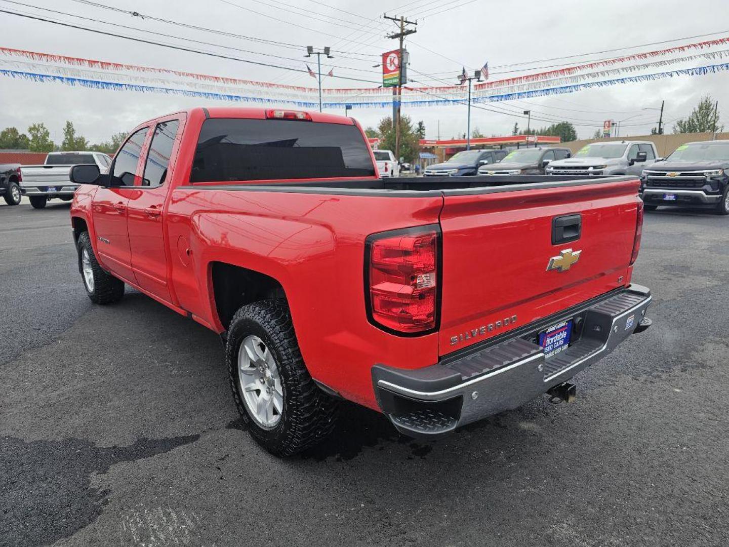
[[[434,437],[550,393],[650,326],[633,176],[380,179],[349,117],[197,108],[74,166],[95,303],[125,284],[219,333],[235,403],[278,455],[337,400]]]

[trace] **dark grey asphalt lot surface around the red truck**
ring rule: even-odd
[[[653,327],[426,443],[348,405],[291,459],[233,406],[214,333],[138,292],[93,306],[69,205],[0,206],[0,545],[725,546],[729,217],[646,214]]]

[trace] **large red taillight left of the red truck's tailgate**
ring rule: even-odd
[[[371,319],[399,333],[423,333],[437,323],[438,232],[398,232],[367,240]]]

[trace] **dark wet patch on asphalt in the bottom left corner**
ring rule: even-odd
[[[164,454],[199,437],[141,438],[110,448],[76,438],[30,443],[0,438],[0,545],[38,547],[73,535],[95,521],[109,500],[108,489],[91,486],[93,473]],[[9,538],[12,543],[5,543]]]

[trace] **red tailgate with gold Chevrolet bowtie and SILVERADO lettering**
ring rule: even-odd
[[[512,187],[513,188],[513,187]],[[462,349],[627,284],[637,179],[444,195],[440,354]],[[579,214],[579,238],[553,244],[555,217]],[[569,221],[574,221],[568,219]],[[572,255],[567,251],[572,249]],[[547,269],[557,260],[564,270]]]

